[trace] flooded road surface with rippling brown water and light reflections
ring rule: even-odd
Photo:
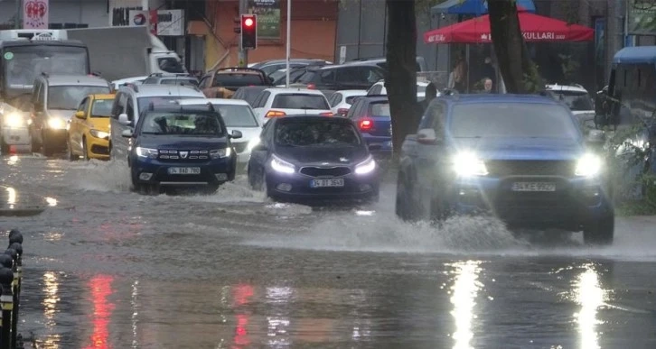
[[[590,248],[485,218],[405,224],[391,185],[313,210],[243,178],[144,197],[118,164],[2,161],[14,204],[48,206],[0,217],[25,238],[19,329],[40,348],[656,347],[655,219]]]

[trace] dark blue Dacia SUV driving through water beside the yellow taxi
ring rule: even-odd
[[[139,117],[130,138],[127,165],[132,184],[142,193],[159,193],[161,187],[201,187],[214,192],[235,178],[237,154],[220,114],[181,106],[151,106]]]

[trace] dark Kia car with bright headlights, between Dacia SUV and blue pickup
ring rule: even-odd
[[[253,148],[248,183],[281,201],[376,200],[380,171],[345,118],[271,119]]]

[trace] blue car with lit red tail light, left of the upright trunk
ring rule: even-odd
[[[358,126],[362,139],[377,160],[392,155],[392,117],[387,96],[362,96],[355,100],[346,115]]]

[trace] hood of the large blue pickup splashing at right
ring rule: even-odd
[[[576,160],[585,152],[582,143],[559,138],[470,138],[457,139],[455,146],[483,160]]]

